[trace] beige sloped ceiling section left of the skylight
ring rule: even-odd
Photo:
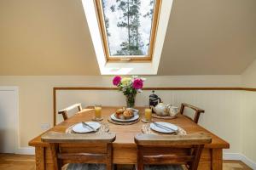
[[[80,0],[0,1],[0,75],[99,75]]]

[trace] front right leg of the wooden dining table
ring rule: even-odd
[[[222,170],[222,149],[212,149],[212,170]]]

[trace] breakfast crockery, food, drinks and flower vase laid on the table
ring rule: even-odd
[[[137,94],[143,92],[142,77],[113,77],[113,85],[125,95],[126,105],[118,108],[113,113],[109,113],[108,122],[115,125],[132,125],[137,122],[144,122],[143,133],[154,134],[186,134],[181,127],[170,122],[155,121],[158,119],[168,120],[177,118],[178,107],[171,104],[164,104],[156,94],[149,95],[149,105],[144,109],[144,114],[135,109]],[[153,121],[152,118],[155,120]],[[102,105],[94,106],[94,116],[90,122],[79,122],[67,127],[66,133],[106,133],[109,131],[108,122],[103,121]]]

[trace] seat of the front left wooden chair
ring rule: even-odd
[[[69,163],[63,166],[61,170],[106,170],[106,165],[89,163]]]

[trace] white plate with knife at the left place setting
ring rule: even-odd
[[[96,130],[102,126],[98,122],[86,122],[86,123],[89,124],[90,127],[93,127]],[[75,133],[91,133],[91,132],[93,132],[93,130],[90,127],[87,127],[82,122],[79,122],[78,124],[73,126],[72,130]]]

